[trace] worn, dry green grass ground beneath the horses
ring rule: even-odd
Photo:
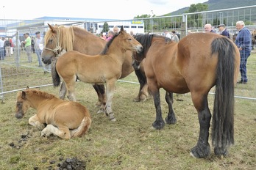
[[[248,62],[249,84],[238,84],[235,95],[256,96],[255,70],[256,55],[252,54]],[[124,80],[137,81],[134,73]],[[96,114],[96,92],[90,84],[77,82],[76,88],[77,99],[89,109],[93,122],[87,135],[68,141],[56,136],[41,137],[40,131],[28,124],[35,110],[30,108],[23,119],[16,119],[16,94],[4,95],[4,103],[0,104],[0,169],[49,169],[49,166],[57,169],[60,158],[72,157],[85,160],[87,169],[255,169],[255,100],[235,98],[235,145],[230,147],[230,155],[217,158],[211,148],[209,158],[196,159],[189,152],[196,145],[199,122],[189,93],[174,95],[183,100],[174,101],[177,124],[154,130],[153,100],[133,102],[138,84],[116,84],[113,98],[116,122],[110,122],[104,114]],[[41,90],[58,95],[59,88],[46,86]],[[208,97],[211,111],[213,97]],[[166,117],[168,107],[163,89],[161,100]]]

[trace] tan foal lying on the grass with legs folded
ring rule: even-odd
[[[30,107],[35,108],[37,114],[29,118],[29,124],[42,130],[41,136],[54,134],[69,139],[84,136],[90,128],[90,113],[77,102],[26,88],[17,94],[15,117],[21,119]]]

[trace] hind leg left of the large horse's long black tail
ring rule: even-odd
[[[208,108],[207,94],[191,92],[193,105],[198,112],[200,130],[199,140],[195,147],[191,149],[191,155],[195,158],[205,158],[210,155],[210,145],[208,143],[211,114]],[[202,97],[203,96],[203,97]]]

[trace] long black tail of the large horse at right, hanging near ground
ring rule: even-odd
[[[226,155],[234,144],[235,45],[226,37],[212,42],[212,54],[218,53],[216,95],[213,108],[212,142],[216,155]]]

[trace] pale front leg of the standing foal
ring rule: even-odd
[[[112,111],[112,100],[115,90],[115,81],[116,80],[107,81],[107,103],[105,107],[105,114],[106,116],[110,117],[111,121],[116,121],[114,113]]]

